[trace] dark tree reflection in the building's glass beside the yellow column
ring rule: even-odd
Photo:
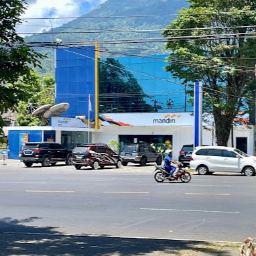
[[[118,60],[107,58],[100,64],[100,111],[154,112],[136,78]]]

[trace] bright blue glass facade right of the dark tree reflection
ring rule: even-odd
[[[191,112],[193,107],[188,103],[190,96],[186,93],[186,85],[180,80],[174,80],[170,72],[164,70],[167,56],[122,56],[114,59],[133,74],[143,92],[147,94],[144,100],[157,108],[157,112]]]

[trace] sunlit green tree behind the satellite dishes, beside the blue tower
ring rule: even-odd
[[[36,73],[35,73],[36,74]],[[54,105],[55,80],[53,77],[44,77],[37,80],[34,95],[26,101],[20,101],[17,106],[17,121],[22,126],[48,125],[48,120],[33,117],[31,112],[46,104]]]

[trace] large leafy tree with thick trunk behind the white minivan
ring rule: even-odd
[[[185,82],[200,81],[204,111],[213,114],[216,142],[227,145],[234,117],[255,90],[256,1],[189,0],[166,27],[166,70]],[[248,99],[248,98],[247,98]]]

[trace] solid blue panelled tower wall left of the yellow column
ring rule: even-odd
[[[88,95],[94,118],[95,104],[95,49],[94,46],[82,48],[56,49],[56,101],[69,103],[69,109],[61,117],[88,115]]]

